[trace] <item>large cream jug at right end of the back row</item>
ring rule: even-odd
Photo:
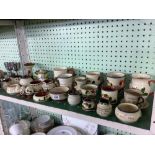
[[[155,83],[155,80],[152,80],[150,75],[135,73],[132,74],[132,80],[129,87],[139,89],[142,92],[143,98],[147,98],[151,93],[151,83]]]

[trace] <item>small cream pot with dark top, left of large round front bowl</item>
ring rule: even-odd
[[[112,112],[112,105],[109,103],[109,101],[101,99],[97,104],[96,112],[101,117],[108,117]]]

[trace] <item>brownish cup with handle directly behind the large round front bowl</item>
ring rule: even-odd
[[[138,89],[126,89],[124,91],[125,102],[139,104],[144,102],[142,92]]]

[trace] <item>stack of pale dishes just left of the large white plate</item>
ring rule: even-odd
[[[48,132],[54,126],[54,119],[48,115],[41,115],[31,123],[33,132]]]

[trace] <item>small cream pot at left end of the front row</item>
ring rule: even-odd
[[[10,95],[20,93],[20,85],[19,84],[9,85],[7,86],[6,92]]]

